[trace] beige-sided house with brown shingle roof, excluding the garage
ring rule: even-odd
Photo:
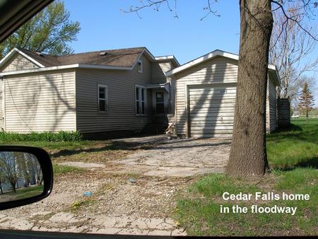
[[[174,112],[179,66],[146,47],[60,57],[14,48],[0,61],[0,127],[6,132],[142,130]]]

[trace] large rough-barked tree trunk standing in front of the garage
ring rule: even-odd
[[[266,87],[273,17],[270,0],[240,1],[240,57],[227,174],[259,177],[266,157]]]

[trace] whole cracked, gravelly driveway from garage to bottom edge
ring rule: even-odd
[[[186,235],[172,219],[177,198],[199,175],[223,172],[230,141],[153,136],[117,144],[138,146],[118,148],[111,158],[113,152],[107,150],[90,150],[81,157],[55,152],[54,162],[85,171],[56,177],[52,194],[41,202],[1,211],[0,228]]]

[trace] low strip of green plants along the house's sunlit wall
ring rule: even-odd
[[[0,141],[82,141],[83,135],[79,132],[31,132],[30,134],[18,134],[13,132],[0,132]]]

